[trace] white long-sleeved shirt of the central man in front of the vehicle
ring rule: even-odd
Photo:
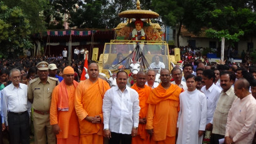
[[[106,91],[102,111],[104,129],[122,134],[131,134],[132,127],[139,125],[139,94],[126,86],[124,92],[118,86]]]

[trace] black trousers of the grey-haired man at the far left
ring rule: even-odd
[[[23,113],[8,113],[10,144],[29,144],[29,115]]]

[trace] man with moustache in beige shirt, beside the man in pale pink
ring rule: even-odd
[[[228,111],[235,98],[237,98],[232,86],[233,83],[235,83],[235,73],[233,71],[222,71],[220,73],[220,86],[223,90],[213,115],[212,144],[218,144],[221,138],[225,138]]]

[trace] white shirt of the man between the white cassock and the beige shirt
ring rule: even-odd
[[[207,100],[207,120],[206,123],[211,123],[213,124],[213,114],[216,109],[216,105],[218,103],[218,98],[220,96],[221,90],[216,86],[214,83],[213,85],[206,90],[206,87],[203,86],[201,88],[201,91],[205,93],[206,100]]]

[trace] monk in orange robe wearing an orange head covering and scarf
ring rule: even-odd
[[[63,78],[51,94],[50,124],[58,144],[79,143],[79,122],[75,113],[75,71],[71,66],[63,70]]]

